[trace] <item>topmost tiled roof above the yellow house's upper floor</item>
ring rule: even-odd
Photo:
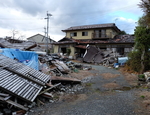
[[[94,24],[94,25],[83,25],[83,26],[73,26],[70,28],[67,28],[65,30],[62,30],[63,32],[65,31],[71,31],[71,30],[82,30],[82,29],[95,29],[95,28],[109,28],[109,27],[114,27],[118,31],[120,31],[115,23],[108,23],[108,24]]]

